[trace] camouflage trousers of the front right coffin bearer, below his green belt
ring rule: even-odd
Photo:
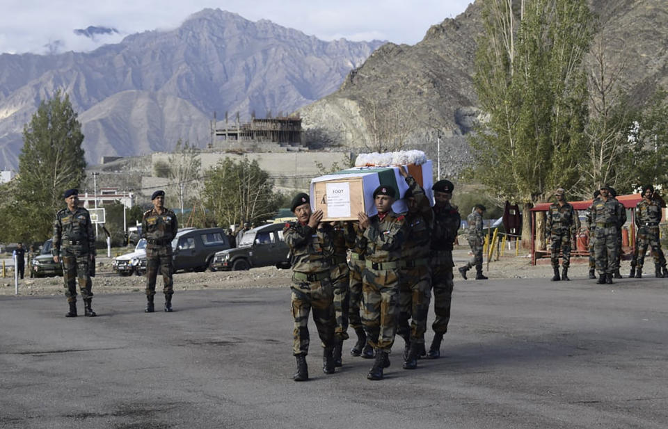
[[[390,353],[397,333],[399,271],[365,268],[362,301],[367,341],[374,349]]]

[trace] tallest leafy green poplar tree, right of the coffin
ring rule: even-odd
[[[580,175],[591,38],[585,0],[486,0],[475,89],[488,120],[472,133],[475,175],[528,210]]]

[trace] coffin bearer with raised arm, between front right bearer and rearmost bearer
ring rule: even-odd
[[[397,334],[405,341],[404,369],[417,368],[420,351],[424,350],[424,332],[427,331],[427,313],[431,300],[431,269],[429,252],[431,225],[434,212],[424,190],[404,167],[399,173],[408,184],[404,200],[406,213],[406,241],[401,251],[399,270],[399,319]],[[411,325],[408,325],[408,319]]]

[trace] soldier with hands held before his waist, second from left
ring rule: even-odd
[[[145,211],[141,219],[141,236],[146,238],[146,313],[154,311],[155,282],[158,269],[162,273],[165,311],[172,311],[174,294],[174,266],[172,264],[172,240],[179,229],[176,214],[165,208],[165,191],[151,195],[153,208]]]

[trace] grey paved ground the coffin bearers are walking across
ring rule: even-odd
[[[661,428],[668,282],[456,282],[445,357],[291,379],[287,289],[0,298],[0,428]],[[310,322],[312,323],[312,322]],[[312,327],[312,325],[311,325]],[[314,331],[312,329],[312,331]],[[431,332],[428,333],[431,340]],[[347,346],[351,341],[347,341]]]

